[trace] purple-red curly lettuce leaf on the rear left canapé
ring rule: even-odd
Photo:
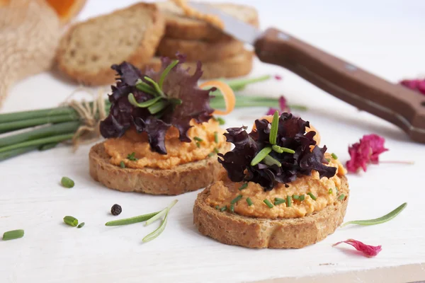
[[[136,87],[142,81],[153,87],[152,83],[145,79],[149,77],[158,82],[162,72],[171,64],[171,59],[162,58],[162,68],[159,72],[148,70],[145,74],[128,62],[111,68],[117,71],[116,86],[112,86],[109,95],[111,111],[108,117],[101,122],[101,134],[105,138],[122,137],[123,134],[134,127],[137,132],[147,133],[152,151],[166,154],[165,134],[170,127],[179,129],[179,139],[190,142],[188,129],[191,128],[192,119],[196,122],[207,122],[214,111],[210,108],[210,91],[198,88],[198,80],[202,76],[201,64],[198,63],[195,74],[188,74],[188,69],[181,67],[185,61],[179,56],[179,63],[169,71],[164,79],[162,91],[166,99],[177,98],[181,100],[180,105],[169,104],[157,115],[152,115],[147,108],[132,105],[128,96],[132,93],[137,103],[151,100],[155,96],[141,91]]]

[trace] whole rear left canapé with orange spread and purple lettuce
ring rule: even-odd
[[[145,73],[128,62],[113,65],[117,84],[109,96],[110,113],[100,126],[106,141],[89,154],[94,180],[115,190],[152,195],[179,195],[217,180],[220,164],[214,156],[227,152],[230,144],[212,116],[213,88],[203,87],[214,82],[198,86],[201,65],[189,74],[183,62],[182,56],[164,57],[159,71]]]

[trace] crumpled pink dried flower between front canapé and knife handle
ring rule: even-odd
[[[366,134],[359,142],[348,146],[351,159],[347,161],[347,170],[356,173],[359,168],[367,170],[369,163],[378,164],[379,155],[387,151],[384,147],[385,139],[378,134]]]

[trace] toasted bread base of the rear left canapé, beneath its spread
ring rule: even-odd
[[[229,151],[225,143],[221,153]],[[90,175],[113,190],[145,192],[151,195],[180,195],[207,187],[217,180],[222,166],[217,156],[176,166],[173,169],[120,168],[109,163],[103,143],[93,146],[89,153]]]

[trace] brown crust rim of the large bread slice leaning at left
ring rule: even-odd
[[[81,71],[77,69],[73,69],[72,66],[68,66],[67,62],[64,60],[64,54],[67,52],[67,47],[69,46],[69,41],[71,40],[71,36],[73,30],[80,28],[82,25],[86,23],[90,23],[93,21],[98,21],[99,18],[106,18],[108,16],[112,16],[115,13],[120,13],[121,11],[125,11],[128,9],[135,8],[144,8],[152,11],[152,25],[148,25],[145,30],[145,37],[140,41],[139,46],[135,49],[131,54],[128,54],[127,58],[123,58],[123,61],[130,62],[136,66],[140,66],[142,64],[146,64],[149,62],[157,50],[157,46],[165,33],[165,18],[159,13],[157,6],[154,4],[147,3],[138,3],[132,5],[125,9],[120,9],[117,11],[113,11],[108,15],[99,16],[96,18],[91,18],[88,21],[77,23],[70,28],[62,40],[60,41],[60,46],[57,52],[57,66],[64,73],[70,76],[72,79],[77,81],[78,83],[83,83],[87,86],[99,86],[105,85],[115,82],[115,71],[110,67],[106,69],[102,69],[96,73]],[[112,47],[113,48],[113,44]],[[111,64],[120,64],[121,62],[111,62]]]

